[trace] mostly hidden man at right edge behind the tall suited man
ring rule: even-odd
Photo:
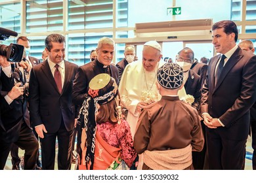
[[[245,50],[246,52],[250,52],[254,54],[255,48],[253,46],[253,42],[250,40],[243,40],[238,43],[238,46]],[[250,108],[250,117],[251,117],[251,147],[253,148],[253,170],[256,170],[256,103],[253,104],[253,107]]]

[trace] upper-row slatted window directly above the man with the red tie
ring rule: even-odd
[[[26,32],[63,31],[62,0],[26,2]]]

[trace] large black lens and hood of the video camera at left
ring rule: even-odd
[[[22,60],[24,46],[19,44],[10,44],[9,46],[0,44],[0,55],[5,56],[8,61],[20,62]]]

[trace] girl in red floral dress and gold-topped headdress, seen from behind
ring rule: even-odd
[[[137,154],[127,121],[117,105],[118,86],[110,75],[96,75],[79,114],[82,127],[79,169],[129,169]]]

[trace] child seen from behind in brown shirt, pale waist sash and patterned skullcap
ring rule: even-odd
[[[182,68],[166,63],[157,77],[161,100],[142,110],[134,138],[142,169],[194,169],[192,151],[201,151],[204,139],[198,112],[178,96]]]

